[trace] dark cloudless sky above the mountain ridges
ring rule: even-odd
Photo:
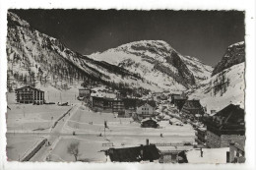
[[[33,28],[82,54],[137,41],[164,40],[183,55],[215,66],[226,47],[244,40],[243,12],[15,10]]]

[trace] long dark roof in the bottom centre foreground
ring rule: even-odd
[[[154,144],[126,148],[110,148],[108,152],[111,161],[115,162],[139,162],[160,158],[160,152]]]

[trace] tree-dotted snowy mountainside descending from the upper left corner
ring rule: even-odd
[[[138,74],[72,51],[11,12],[6,47],[9,90],[20,85],[65,88],[84,81],[160,90],[160,86],[151,85]]]

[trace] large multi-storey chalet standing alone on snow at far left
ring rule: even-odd
[[[16,101],[24,104],[43,104],[44,103],[44,91],[34,88],[30,85],[23,86],[15,90]]]

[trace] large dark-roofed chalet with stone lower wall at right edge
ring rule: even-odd
[[[244,145],[244,110],[238,105],[229,104],[223,110],[206,120],[207,146],[228,147],[229,142]]]

